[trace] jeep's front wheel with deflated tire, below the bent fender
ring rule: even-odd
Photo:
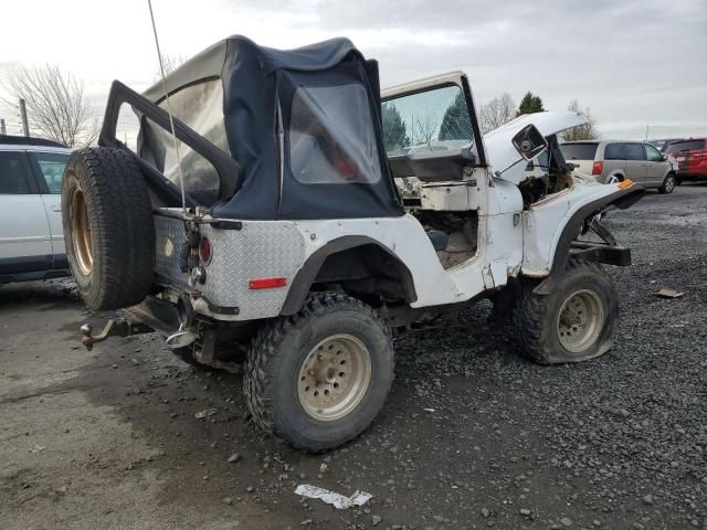
[[[613,346],[619,328],[619,297],[609,275],[597,264],[570,261],[548,295],[526,282],[514,311],[519,347],[541,364],[579,362]]]

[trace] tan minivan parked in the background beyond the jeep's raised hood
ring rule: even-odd
[[[566,141],[560,150],[568,162],[600,182],[630,179],[644,188],[672,193],[674,165],[651,144],[629,140]]]

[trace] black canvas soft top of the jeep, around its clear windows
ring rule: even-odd
[[[382,144],[378,66],[376,62],[366,61],[348,39],[331,39],[282,51],[258,46],[244,36],[230,36],[192,57],[167,77],[170,105],[172,94],[213,80],[220,80],[222,86],[223,129],[226,137],[222,148],[228,145],[231,156],[242,167],[236,192],[231,197],[221,197],[212,204],[215,215],[240,219],[337,219],[402,214]],[[369,127],[373,141],[371,144],[368,140],[366,152],[377,158],[376,170],[381,172],[379,180],[360,182],[354,176],[351,183],[341,187],[323,183],[317,178],[312,182],[303,182],[303,179],[293,174],[289,158],[292,138],[288,131],[291,126],[299,127],[292,121],[295,93],[298,88],[310,87],[314,94],[323,86],[356,86],[357,94],[365,95],[362,110],[350,117],[357,121],[362,119],[365,125],[371,124]],[[161,82],[148,88],[144,95],[163,107]],[[312,105],[315,115],[320,114],[321,119],[326,120],[326,109],[319,108],[316,102]],[[191,126],[192,117],[180,115],[179,108],[172,110],[179,119]],[[190,112],[198,113],[199,109],[197,107]],[[338,121],[331,119],[330,124],[324,124],[318,130],[328,127],[331,134],[327,138],[341,138],[341,131],[361,129],[359,124],[347,127],[346,118],[339,115]],[[209,139],[219,145],[218,138]],[[346,138],[341,138],[341,141],[342,145],[351,144],[347,144]],[[366,142],[360,138],[354,138],[352,141]],[[366,157],[359,158],[363,163],[371,162],[363,160]],[[326,167],[326,163],[319,167]],[[182,165],[182,171],[187,174],[189,168]]]

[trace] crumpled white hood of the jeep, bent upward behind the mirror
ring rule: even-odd
[[[542,136],[548,137],[585,123],[587,119],[583,116],[574,113],[524,114],[484,135],[486,159],[494,172],[503,171],[502,179],[517,184],[523,180],[526,165],[518,163],[523,157],[513,147],[510,140],[520,129],[532,124]]]

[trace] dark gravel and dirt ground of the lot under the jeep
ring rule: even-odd
[[[2,287],[0,528],[707,529],[707,186],[606,224],[635,263],[611,267],[606,356],[528,363],[482,303],[400,339],[377,422],[320,456],[261,435],[239,377],[155,336],[78,348],[66,284]],[[335,510],[297,484],[373,498]]]

